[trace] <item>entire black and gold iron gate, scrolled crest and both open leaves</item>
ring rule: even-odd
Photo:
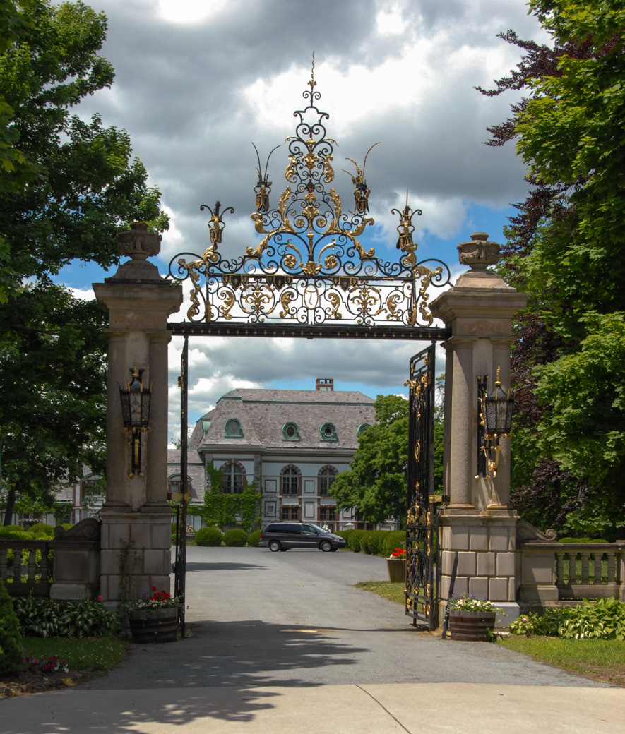
[[[180,252],[170,261],[169,277],[190,285],[187,320],[170,323],[174,335],[185,337],[181,408],[180,545],[176,548],[176,593],[184,593],[187,507],[187,337],[189,335],[269,336],[290,338],[361,338],[442,341],[446,328],[434,325],[428,308],[430,286],[443,288],[449,268],[436,258],[417,259],[413,241],[413,209],[392,212],[399,217],[397,259],[384,259],[359,238],[374,221],[368,217],[369,187],[353,159],[354,205],[344,211],[341,199],[327,184],[334,179],[336,142],[327,137],[314,81],[314,63],[307,104],[297,110],[295,134],[289,136],[286,187],[277,206],[270,203],[272,183],[267,164],[254,188],[256,207],[250,215],[260,241],[243,254],[225,257],[225,214],[219,201],[208,209],[209,244],[200,254]],[[377,143],[375,144],[377,145]],[[372,146],[373,148],[374,146]],[[275,150],[275,148],[274,148]],[[369,148],[369,151],[371,148]],[[369,153],[367,151],[367,155]],[[272,151],[273,152],[273,151]],[[271,156],[271,153],[270,153]],[[384,255],[386,258],[387,255]],[[433,584],[433,537],[436,515],[433,490],[434,347],[411,360],[411,423],[408,452],[408,579],[407,610],[414,619],[436,626]],[[184,608],[181,609],[184,630]]]

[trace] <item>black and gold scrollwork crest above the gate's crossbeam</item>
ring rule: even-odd
[[[212,215],[209,247],[202,255],[181,252],[170,261],[169,276],[191,283],[188,321],[431,327],[428,289],[447,286],[450,273],[436,258],[416,259],[411,220],[421,211],[413,211],[408,202],[402,212],[393,210],[400,214],[397,261],[381,260],[374,248],[365,250],[359,238],[374,220],[366,217],[368,206],[362,206],[370,193],[364,166],[361,171],[356,164],[354,211],[346,213],[336,190],[327,189],[334,178],[336,145],[324,125],[329,115],[315,105],[320,95],[314,76],[308,86],[303,92],[308,104],[294,113],[295,135],[285,141],[287,185],[274,208],[271,182],[267,169],[261,172],[259,159],[256,211],[251,214],[262,236],[259,244],[244,255],[224,258],[219,251],[223,216],[234,210],[221,211],[217,202],[212,208],[201,207]]]

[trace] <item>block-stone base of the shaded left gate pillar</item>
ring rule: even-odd
[[[101,514],[100,591],[108,603],[139,599],[152,586],[170,593],[171,513]]]

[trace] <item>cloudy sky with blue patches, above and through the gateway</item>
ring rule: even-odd
[[[507,117],[513,96],[485,98],[516,65],[515,48],[496,34],[546,40],[524,0],[94,0],[109,19],[103,54],[115,83],[79,112],[126,128],[134,154],[159,186],[171,217],[158,265],[163,275],[178,252],[209,244],[201,204],[233,206],[224,247],[242,252],[256,241],[250,214],[261,156],[295,131],[292,113],[315,56],[319,109],[336,139],[333,185],[352,203],[345,158],[366,164],[372,240],[396,258],[397,222],[408,189],[421,208],[415,241],[421,258],[461,272],[455,249],[474,231],[502,241],[510,205],[524,198],[524,169],[513,148],[490,148],[486,127]],[[286,149],[270,162],[278,195]],[[346,207],[347,208],[347,207]],[[61,280],[89,295],[107,274],[70,266]],[[436,292],[433,293],[433,297]],[[188,307],[187,307],[188,308]],[[183,310],[178,319],[183,320]],[[415,342],[292,341],[196,338],[190,344],[189,414],[198,418],[227,390],[314,388],[333,377],[339,390],[403,393]],[[181,342],[170,347],[170,436],[179,431]],[[443,368],[442,355],[438,371]]]

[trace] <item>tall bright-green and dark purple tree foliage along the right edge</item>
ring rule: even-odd
[[[482,90],[527,92],[489,128],[494,145],[516,139],[532,184],[502,267],[531,294],[513,355],[512,500],[533,521],[544,512],[540,524],[614,536],[625,527],[625,7],[532,0],[530,9],[553,43],[507,32],[524,57],[496,90]]]

